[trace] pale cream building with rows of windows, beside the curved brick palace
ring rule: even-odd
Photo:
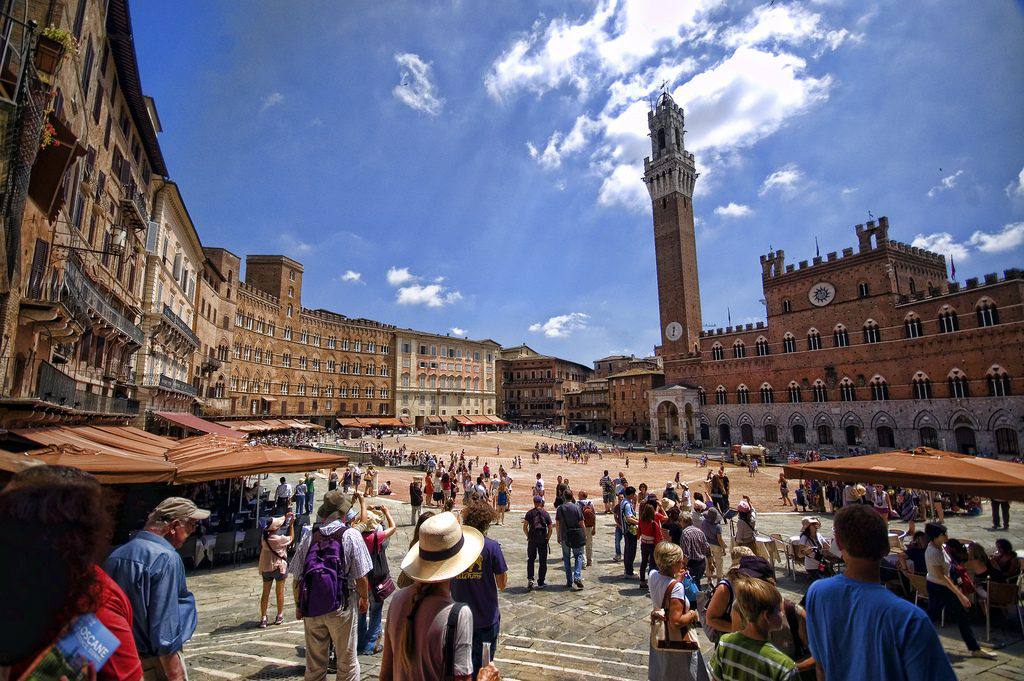
[[[395,413],[404,422],[423,428],[456,415],[496,414],[498,343],[412,329],[394,335]]]

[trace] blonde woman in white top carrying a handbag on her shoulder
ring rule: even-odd
[[[649,644],[647,663],[648,681],[708,681],[708,665],[692,629],[700,624],[696,610],[690,609],[683,590],[683,550],[672,542],[662,542],[654,547],[654,565],[650,573],[650,602],[652,622],[663,622],[665,640],[689,642],[692,651],[664,651]]]

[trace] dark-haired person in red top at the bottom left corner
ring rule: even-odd
[[[95,614],[120,645],[96,678],[136,681],[142,665],[132,637],[127,596],[97,565],[110,539],[110,516],[94,477],[67,466],[18,473],[0,493],[3,584],[7,624],[0,665],[10,678],[30,669],[76,618]],[[16,559],[15,559],[16,557]]]

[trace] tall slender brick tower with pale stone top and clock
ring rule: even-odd
[[[685,354],[700,338],[700,288],[693,233],[693,155],[683,147],[683,110],[663,92],[647,114],[650,158],[644,182],[654,214],[657,298],[662,312],[662,353]]]

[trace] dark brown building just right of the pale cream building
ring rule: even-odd
[[[522,425],[564,428],[564,393],[584,387],[590,367],[541,354],[525,344],[501,352],[502,417]]]

